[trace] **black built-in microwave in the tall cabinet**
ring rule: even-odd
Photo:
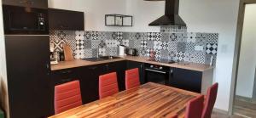
[[[47,35],[48,10],[3,5],[3,25],[5,34]]]

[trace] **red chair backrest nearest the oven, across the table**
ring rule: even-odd
[[[125,89],[140,86],[138,68],[125,71]]]

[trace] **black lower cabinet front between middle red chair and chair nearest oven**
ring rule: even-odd
[[[119,82],[119,91],[125,90],[125,61],[117,61],[105,65],[108,73],[116,72]]]

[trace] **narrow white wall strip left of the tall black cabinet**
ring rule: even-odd
[[[2,4],[2,1],[0,1]],[[9,100],[7,88],[7,72],[6,72],[6,59],[5,59],[5,45],[3,37],[3,12],[2,5],[0,5],[0,100],[3,109],[7,112],[9,118]]]

